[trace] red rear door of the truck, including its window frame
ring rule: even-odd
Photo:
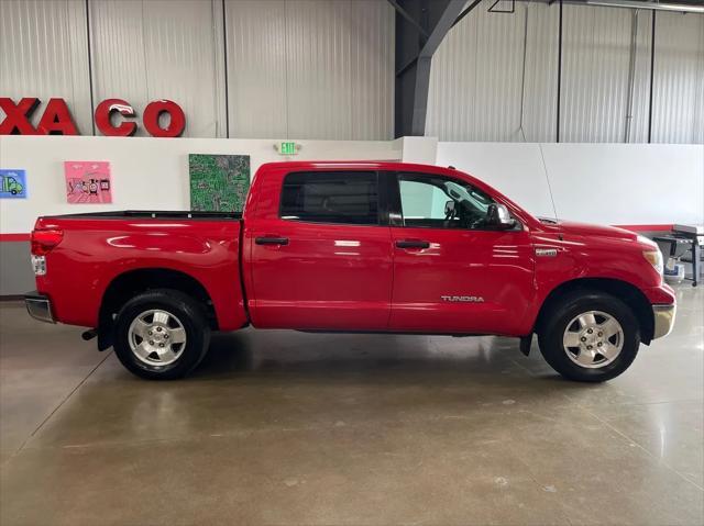
[[[252,324],[263,328],[385,331],[393,262],[388,226],[302,223],[279,217],[282,183],[292,171],[372,169],[377,165],[264,165],[244,210],[245,287]],[[257,236],[288,246],[257,246]]]

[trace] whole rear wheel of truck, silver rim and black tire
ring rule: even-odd
[[[186,376],[206,356],[209,343],[202,306],[177,290],[134,296],[116,321],[116,355],[132,373],[150,380]]]

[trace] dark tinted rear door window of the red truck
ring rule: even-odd
[[[376,174],[312,171],[284,179],[280,215],[318,223],[378,224]]]

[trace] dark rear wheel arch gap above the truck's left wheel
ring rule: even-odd
[[[208,290],[193,276],[164,267],[140,268],[116,276],[106,288],[98,317],[98,348],[112,345],[114,315],[130,299],[152,289],[174,289],[195,298],[206,310],[208,324],[218,331],[218,317]]]

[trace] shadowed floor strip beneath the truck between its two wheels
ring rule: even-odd
[[[407,335],[312,335],[295,331],[215,333],[191,381],[289,377],[322,383],[359,381],[575,387],[554,373],[538,349],[526,358],[515,338]]]

